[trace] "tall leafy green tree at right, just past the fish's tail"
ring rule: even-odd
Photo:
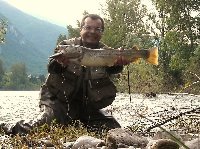
[[[160,68],[165,72],[168,84],[183,85],[184,72],[199,44],[199,7],[197,0],[152,0],[158,10],[160,31]],[[194,15],[197,14],[197,15]]]

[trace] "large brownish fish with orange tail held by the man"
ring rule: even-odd
[[[57,47],[58,53],[51,55],[49,58],[55,58],[64,55],[70,62],[83,66],[113,66],[119,59],[125,59],[129,62],[136,62],[143,58],[148,63],[158,65],[158,48],[154,47],[149,50],[138,50],[137,47],[132,49],[90,49],[79,45],[60,45]]]

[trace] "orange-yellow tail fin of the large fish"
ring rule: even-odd
[[[151,48],[149,50],[149,57],[147,58],[147,61],[150,64],[158,65],[158,47]]]

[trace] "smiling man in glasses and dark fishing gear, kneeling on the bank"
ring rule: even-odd
[[[100,42],[104,21],[96,14],[86,15],[81,22],[80,37],[64,40],[59,45],[81,45],[87,48],[109,49]],[[109,49],[110,50],[110,49]],[[55,52],[60,52],[58,48]],[[67,125],[79,120],[89,129],[113,129],[120,124],[101,109],[116,96],[111,74],[120,73],[128,64],[122,57],[112,67],[85,67],[70,63],[64,56],[51,59],[48,77],[40,91],[42,114],[34,121],[20,121],[9,129],[12,134],[27,133],[33,127],[50,124],[52,120]]]

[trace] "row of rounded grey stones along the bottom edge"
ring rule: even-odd
[[[165,133],[161,135],[159,132],[158,134],[155,135],[156,137],[146,138],[126,129],[116,128],[108,131],[105,140],[83,135],[74,142],[63,142],[62,145],[63,149],[184,149],[163,135]],[[10,137],[7,135],[0,136],[0,148],[14,148],[8,143],[9,139]],[[48,139],[43,138],[38,141],[48,149],[55,148]],[[5,145],[3,142],[7,142],[7,144]],[[189,149],[200,149],[200,137],[184,143]],[[43,147],[37,147],[37,149],[43,149]]]

